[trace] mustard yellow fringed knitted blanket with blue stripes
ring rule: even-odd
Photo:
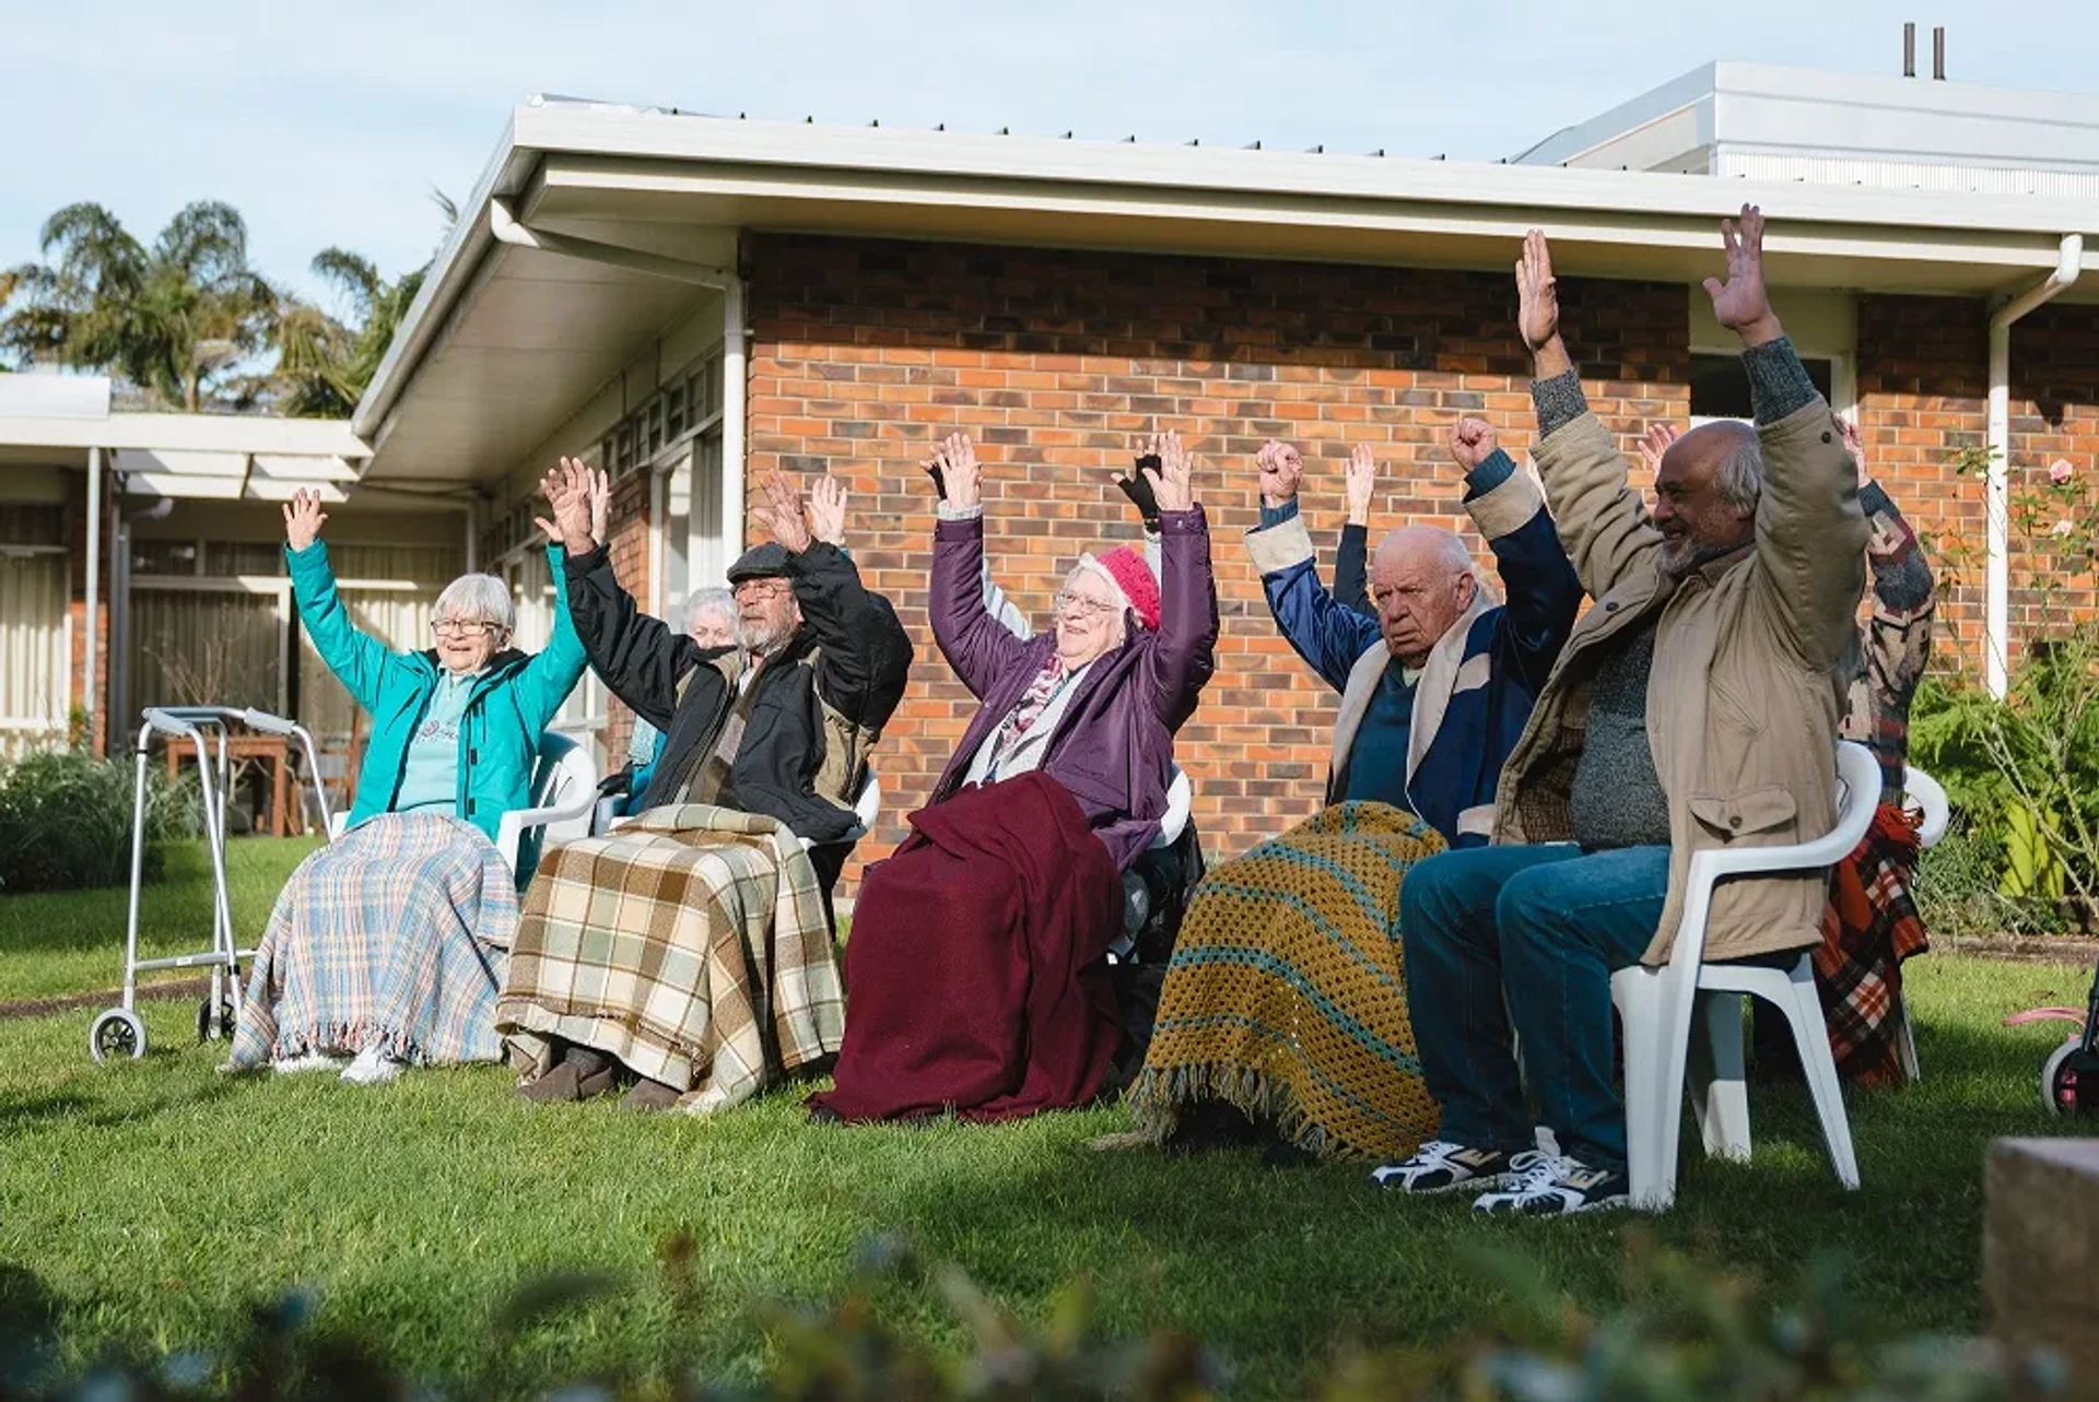
[[[1318,1154],[1413,1152],[1438,1114],[1406,1012],[1400,881],[1442,848],[1421,819],[1350,802],[1203,877],[1129,1089],[1136,1138],[1222,1100]]]

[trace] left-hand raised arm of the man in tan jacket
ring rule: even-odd
[[[1610,594],[1662,548],[1662,533],[1627,479],[1625,458],[1589,413],[1581,376],[1560,340],[1560,290],[1545,233],[1532,229],[1515,262],[1518,325],[1532,355],[1530,403],[1539,416],[1532,455],[1553,504],[1560,539],[1591,598]]]

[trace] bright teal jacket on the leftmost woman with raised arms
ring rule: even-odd
[[[437,651],[395,653],[363,634],[342,607],[336,571],[321,541],[285,550],[298,617],[327,670],[348,688],[351,699],[372,714],[372,741],[357,774],[351,827],[393,812],[407,766],[407,745],[437,691]],[[539,758],[539,735],[584,676],[584,644],[569,623],[569,573],[560,548],[548,548],[554,575],[554,638],[544,653],[508,649],[497,653],[474,684],[460,724],[460,798],[453,816],[466,819],[489,840],[504,814],[531,804],[531,770]]]

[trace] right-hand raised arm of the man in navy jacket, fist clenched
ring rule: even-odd
[[[1453,424],[1450,458],[1465,468],[1465,510],[1494,552],[1494,573],[1501,575],[1503,609],[1494,642],[1515,674],[1541,688],[1574,632],[1581,579],[1545,510],[1545,493],[1501,451],[1492,424],[1476,418]]]

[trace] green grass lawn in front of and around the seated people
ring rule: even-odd
[[[254,848],[241,915],[254,930],[264,863],[281,871],[294,854],[241,848]],[[170,909],[187,898],[174,886],[155,892]],[[38,900],[34,917],[0,900],[0,938],[31,951],[4,947],[6,986],[113,982],[111,909],[122,930],[122,892],[113,905]],[[76,938],[61,928],[73,919],[94,928]],[[325,1324],[458,1381],[483,1375],[491,1314],[514,1287],[619,1272],[634,1291],[506,1341],[510,1377],[542,1392],[581,1373],[632,1377],[672,1350],[756,1377],[768,1339],[754,1301],[833,1301],[856,1247],[903,1232],[1026,1318],[1089,1276],[1106,1335],[1180,1326],[1232,1362],[1236,1396],[1293,1396],[1345,1341],[1434,1343],[1478,1326],[1497,1303],[1465,1266],[1480,1247],[1518,1251],[1551,1287],[1608,1305],[1625,1234],[1646,1222],[1780,1284],[1837,1249],[1853,1261],[1860,1318],[1975,1331],[1984,1150],[1994,1135],[2063,1131],[2036,1091],[2061,1033],[1998,1022],[2082,1003],[2089,972],[1948,957],[1910,968],[1925,1083],[1849,1096],[1866,1190],[1837,1188],[1805,1093],[1761,1091],[1757,1161],[1685,1159],[1679,1207],[1658,1222],[1482,1222],[1463,1201],[1381,1196],[1360,1165],[1087,1150],[1123,1127],[1117,1110],[833,1129],[806,1125],[800,1091],[783,1091],[718,1119],[649,1119],[527,1106],[497,1068],[380,1089],[220,1077],[222,1047],[193,1043],[187,1001],[149,1005],[155,1052],[111,1066],[86,1058],[90,1012],[0,1020],[0,1284],[13,1280],[0,1320],[48,1316],[78,1364],[111,1345],[225,1341],[248,1305],[311,1284]],[[676,1234],[697,1247],[697,1318],[653,1284]],[[940,1347],[966,1341],[928,1289],[884,1284],[875,1308]]]

